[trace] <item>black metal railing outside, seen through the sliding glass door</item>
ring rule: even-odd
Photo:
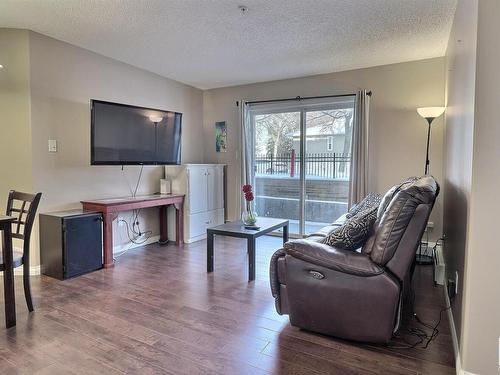
[[[300,154],[256,155],[255,173],[258,175],[300,176]],[[328,179],[348,179],[351,155],[333,152],[306,153],[305,174]]]

